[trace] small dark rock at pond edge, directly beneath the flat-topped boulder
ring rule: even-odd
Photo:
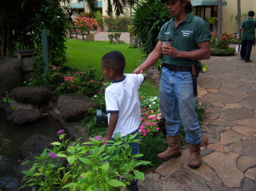
[[[18,125],[32,122],[42,117],[41,112],[34,109],[15,109],[12,116],[15,124]]]

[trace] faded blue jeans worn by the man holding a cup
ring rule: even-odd
[[[186,133],[186,141],[192,144],[201,142],[191,73],[170,71],[166,67],[162,67],[159,103],[166,120],[167,137],[179,134],[179,113]]]

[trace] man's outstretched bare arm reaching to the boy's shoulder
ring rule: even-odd
[[[159,58],[162,55],[162,41],[158,41],[158,43],[155,46],[155,49],[148,54],[147,59],[141,64],[141,66],[137,67],[133,71],[133,74],[142,74],[144,70],[147,70],[148,67],[155,64],[156,61],[159,60]]]

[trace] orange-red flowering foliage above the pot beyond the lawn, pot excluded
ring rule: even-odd
[[[96,19],[92,18],[86,18],[86,17],[81,17],[77,16],[75,19],[74,25],[76,27],[80,27],[79,32],[81,33],[90,33],[90,31],[94,31],[94,27],[97,26]]]

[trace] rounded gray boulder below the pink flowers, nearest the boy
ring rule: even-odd
[[[57,108],[63,120],[67,122],[80,121],[88,116],[88,108],[97,109],[96,103],[85,95],[61,95],[57,100]]]

